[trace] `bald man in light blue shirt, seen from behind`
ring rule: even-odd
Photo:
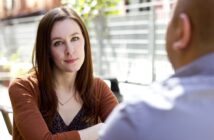
[[[178,0],[166,34],[175,74],[120,104],[100,140],[214,140],[214,0]]]

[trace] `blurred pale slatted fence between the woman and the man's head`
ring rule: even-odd
[[[121,15],[97,18],[90,31],[98,75],[149,84],[171,74],[165,31],[173,3],[132,4]]]

